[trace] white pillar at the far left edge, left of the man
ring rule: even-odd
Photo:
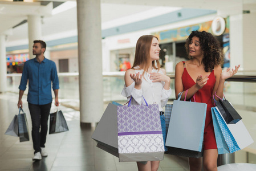
[[[5,35],[0,34],[0,93],[6,92],[6,50]]]

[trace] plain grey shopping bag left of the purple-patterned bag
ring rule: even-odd
[[[94,133],[92,139],[97,142],[97,147],[119,157],[117,143],[117,106],[109,103]]]

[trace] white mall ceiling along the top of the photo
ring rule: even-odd
[[[27,15],[44,16],[42,24],[42,36],[44,40],[60,38],[63,35],[76,35],[76,6],[52,15],[52,2],[47,6],[40,5],[40,1],[34,2],[10,2],[0,1],[0,32],[13,28],[18,23],[27,19]],[[31,1],[31,0],[25,0]],[[50,1],[50,0],[44,0]],[[63,2],[65,0],[55,0]],[[71,3],[75,3],[72,1]],[[233,10],[241,13],[242,5],[254,3],[256,0],[101,0],[101,27],[121,25],[124,22],[133,22],[138,19],[150,18],[156,15],[177,10],[174,7]],[[27,23],[11,29],[13,34],[7,38],[7,46],[15,46],[27,43]]]

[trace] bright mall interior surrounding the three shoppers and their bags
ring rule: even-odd
[[[211,32],[220,41],[223,70],[241,65],[226,80],[224,94],[254,140],[235,153],[220,154],[218,170],[255,170],[255,0],[2,0],[0,22],[0,170],[137,170],[136,162],[119,162],[98,148],[92,133],[109,103],[127,102],[121,95],[124,72],[133,64],[141,35],[159,38],[160,64],[173,90],[168,104],[173,104],[175,66],[188,60],[185,40],[194,30]],[[31,132],[26,142],[5,132],[18,114],[23,65],[34,58],[38,39],[47,44],[45,58],[56,64],[58,110],[69,131],[47,135],[48,156],[32,161]],[[28,88],[22,101],[31,131],[27,93]],[[53,102],[51,112],[56,110]],[[189,170],[188,158],[164,154],[159,170]]]

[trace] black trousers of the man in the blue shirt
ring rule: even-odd
[[[45,147],[44,144],[46,143],[50,109],[51,103],[44,105],[29,103],[29,111],[32,121],[32,140],[35,150],[34,153],[41,152],[41,147]]]

